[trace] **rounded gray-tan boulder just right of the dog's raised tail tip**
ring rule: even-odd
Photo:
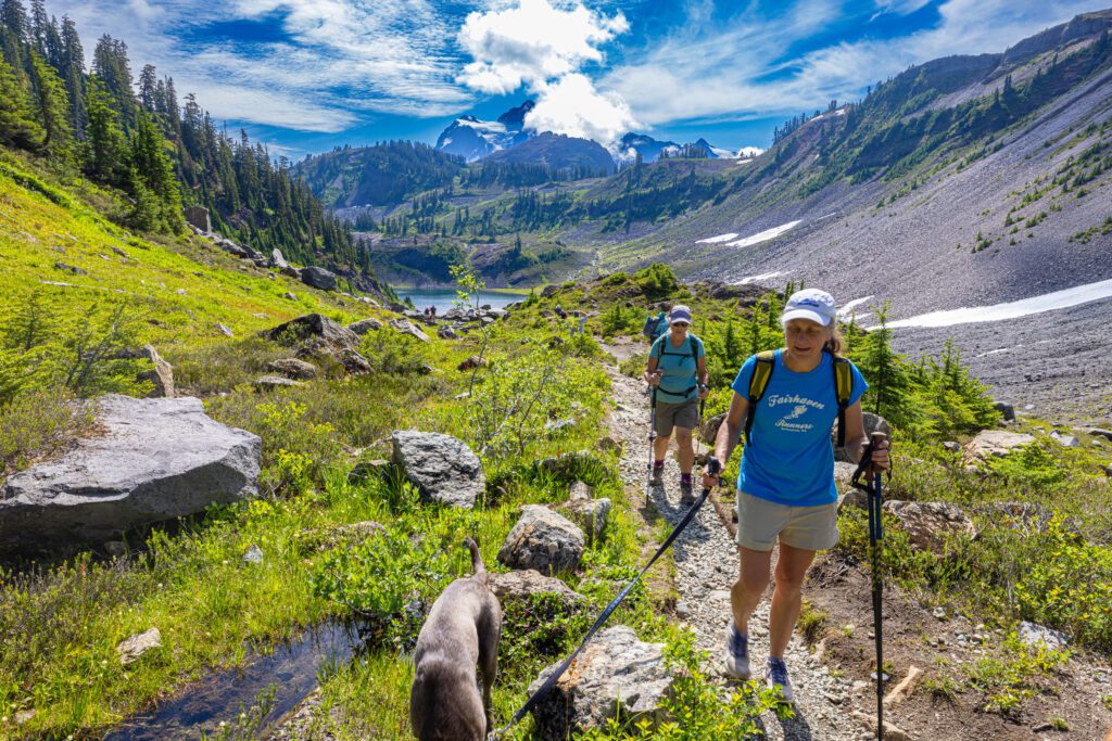
[[[498,561],[510,569],[540,573],[573,571],[583,559],[586,537],[577,524],[542,504],[525,504],[522,517],[498,550]]]

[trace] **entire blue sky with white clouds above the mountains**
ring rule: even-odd
[[[300,159],[435,142],[526,98],[527,124],[739,148],[910,64],[1003,51],[1083,0],[48,0],[87,53],[109,33],[217,121]]]

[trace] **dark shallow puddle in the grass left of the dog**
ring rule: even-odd
[[[152,712],[129,718],[105,741],[198,739],[202,731],[212,737],[220,732],[220,721],[235,728],[239,713],[256,704],[272,685],[270,711],[258,729],[265,734],[317,687],[321,662],[346,662],[359,645],[361,640],[351,624],[328,622],[311,628],[298,641],[280,645],[247,667],[218,672]]]

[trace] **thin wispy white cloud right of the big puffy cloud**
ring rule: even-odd
[[[878,2],[891,12],[915,10],[915,0]],[[815,19],[838,12],[824,0],[803,0],[780,18],[743,12],[728,27],[685,27],[636,59],[610,70],[604,91],[629,101],[651,124],[678,120],[741,121],[824,108],[831,99],[857,98],[862,89],[911,64],[961,53],[1000,52],[1039,31],[1100,6],[1093,0],[1014,3],[949,0],[941,22],[905,37],[865,39],[784,58],[805,43]],[[834,16],[832,16],[834,13]]]

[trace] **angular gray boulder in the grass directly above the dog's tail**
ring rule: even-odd
[[[483,463],[461,440],[439,432],[395,430],[395,465],[420,492],[424,501],[471,509],[486,487]]]

